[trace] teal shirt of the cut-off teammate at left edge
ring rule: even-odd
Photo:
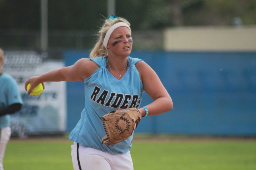
[[[22,99],[18,85],[14,78],[6,73],[0,75],[0,110],[6,109],[14,103],[21,103]],[[0,116],[0,128],[10,126],[10,115]]]

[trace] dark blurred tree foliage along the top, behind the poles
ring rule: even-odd
[[[255,0],[116,0],[116,15],[133,30],[174,26],[256,24]],[[107,1],[48,0],[50,30],[93,30],[102,25]],[[40,0],[0,0],[0,29],[40,29]]]

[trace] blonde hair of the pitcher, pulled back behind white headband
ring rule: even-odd
[[[115,18],[115,19],[106,19],[101,29],[98,31],[98,42],[94,45],[90,53],[90,58],[97,58],[99,56],[107,56],[108,50],[104,47],[103,41],[106,36],[106,33],[110,27],[118,22],[124,22],[130,27],[130,23],[125,18]],[[130,28],[131,29],[131,28]]]

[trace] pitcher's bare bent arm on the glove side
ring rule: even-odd
[[[136,68],[140,73],[145,92],[154,100],[152,103],[146,105],[148,108],[148,116],[172,110],[172,98],[156,72],[144,61],[139,61],[136,64]],[[145,110],[143,108],[140,108],[139,111],[142,116],[145,115]]]

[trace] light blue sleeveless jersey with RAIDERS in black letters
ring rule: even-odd
[[[135,64],[141,59],[128,56],[129,67],[125,75],[117,80],[106,69],[107,57],[90,58],[100,68],[90,77],[84,79],[85,107],[81,118],[69,135],[69,139],[80,145],[110,152],[112,154],[126,153],[131,149],[133,135],[113,146],[102,144],[106,135],[102,120],[104,114],[113,110],[136,107],[139,108],[143,84]]]

